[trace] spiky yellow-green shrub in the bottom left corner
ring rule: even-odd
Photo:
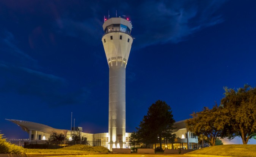
[[[25,153],[27,150],[21,146],[16,146],[6,141],[3,134],[0,134],[0,153],[19,154]]]

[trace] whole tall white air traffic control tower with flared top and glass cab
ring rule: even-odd
[[[109,149],[126,148],[126,65],[132,47],[129,19],[105,19],[102,43],[109,67],[108,142]],[[126,144],[127,145],[127,144]]]

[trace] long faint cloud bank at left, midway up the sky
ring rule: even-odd
[[[90,95],[85,87],[71,90],[65,79],[25,67],[0,64],[0,73],[0,92],[37,96],[49,106],[82,104]]]

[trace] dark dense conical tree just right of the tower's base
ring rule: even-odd
[[[171,135],[174,122],[171,107],[158,100],[149,107],[147,115],[140,122],[137,128],[138,137],[146,147],[159,143],[162,148],[162,138],[164,141],[175,138],[175,135]]]

